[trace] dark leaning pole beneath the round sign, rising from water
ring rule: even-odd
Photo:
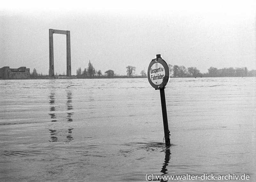
[[[170,131],[168,128],[168,120],[167,120],[167,112],[166,112],[166,103],[165,103],[165,94],[164,88],[160,89],[160,97],[161,97],[161,105],[162,105],[162,114],[163,114],[163,122],[164,122],[164,138],[166,147],[170,147]]]

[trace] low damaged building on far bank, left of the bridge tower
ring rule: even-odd
[[[0,79],[29,79],[30,69],[25,66],[11,69],[9,66],[0,68]]]

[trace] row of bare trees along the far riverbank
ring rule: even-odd
[[[217,69],[214,67],[210,67],[207,73],[201,73],[196,67],[189,67],[186,68],[185,66],[178,66],[178,65],[171,65],[168,64],[170,77],[243,77],[243,76],[256,76],[256,70],[249,71],[246,67],[242,68],[221,68]],[[76,69],[76,77],[77,78],[146,78],[147,74],[145,70],[140,71],[140,76],[135,75],[136,67],[134,66],[127,66],[126,73],[127,76],[123,75],[116,75],[115,72],[111,69],[104,72],[102,74],[101,70],[96,70],[93,66],[91,61],[89,60],[88,67],[84,68],[83,71],[81,67]],[[56,76],[66,76],[65,72],[63,74],[58,74],[56,72]],[[75,76],[75,75],[74,75]],[[33,69],[32,74],[30,74],[31,78],[36,77],[44,77],[41,74],[38,74],[36,69]]]

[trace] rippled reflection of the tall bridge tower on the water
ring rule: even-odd
[[[73,110],[73,106],[72,106],[72,91],[68,90],[67,94],[66,94],[66,106],[65,110],[68,111],[66,112],[66,117],[65,120],[63,120],[63,117],[61,117],[61,111],[63,111],[61,108],[63,106],[63,104],[59,104],[57,105],[56,102],[61,101],[61,99],[56,99],[55,98],[55,91],[52,90],[50,93],[50,112],[49,115],[51,116],[51,121],[54,122],[55,124],[51,123],[50,127],[51,129],[49,129],[50,131],[50,138],[51,140],[49,140],[49,142],[70,142],[71,140],[73,140],[72,137],[72,130],[74,128],[70,127],[68,125],[68,123],[72,122],[72,115],[74,114],[74,112],[70,112],[71,110]],[[61,98],[61,97],[60,97]],[[58,117],[57,117],[57,113],[58,113]],[[63,128],[64,127],[64,128]],[[60,137],[61,136],[65,136],[64,140],[61,140]]]

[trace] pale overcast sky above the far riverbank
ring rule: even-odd
[[[168,2],[168,3],[167,3]],[[49,29],[69,30],[71,72],[126,75],[156,54],[172,65],[256,69],[253,1],[8,1],[0,7],[0,68],[48,74]],[[66,73],[66,35],[53,34],[55,73]]]

